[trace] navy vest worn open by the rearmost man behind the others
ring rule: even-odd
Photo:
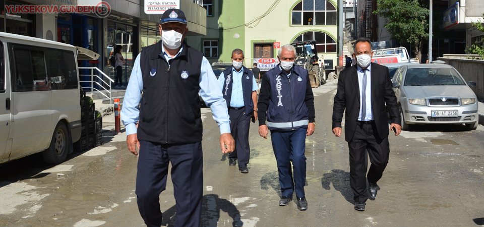
[[[230,106],[230,99],[232,98],[232,86],[233,86],[233,79],[232,79],[232,69],[233,66],[225,69],[223,71],[224,81],[222,87],[222,94],[223,98],[227,102],[227,107]],[[245,66],[242,66],[244,73],[242,74],[242,78],[240,81],[242,82],[242,94],[244,97],[244,107],[245,115],[250,115],[254,111],[254,100],[252,100],[252,71],[247,69]]]

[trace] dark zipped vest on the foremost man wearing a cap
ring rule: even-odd
[[[143,47],[140,68],[143,97],[138,139],[162,144],[202,141],[200,71],[203,54],[186,43],[170,60],[162,54],[161,41]]]

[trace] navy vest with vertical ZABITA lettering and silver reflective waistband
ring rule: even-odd
[[[309,112],[305,99],[308,71],[294,65],[291,75],[287,78],[279,66],[276,66],[265,75],[271,85],[267,128],[284,131],[307,128]]]

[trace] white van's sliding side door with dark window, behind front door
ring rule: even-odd
[[[12,151],[10,158],[49,147],[52,139],[51,82],[45,48],[9,43],[12,78]]]

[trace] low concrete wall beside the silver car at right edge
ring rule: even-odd
[[[475,87],[471,87],[478,99],[484,100],[484,60],[466,59],[473,54],[444,54],[443,58],[437,60],[444,61],[451,65],[464,78],[465,82],[473,81]]]

